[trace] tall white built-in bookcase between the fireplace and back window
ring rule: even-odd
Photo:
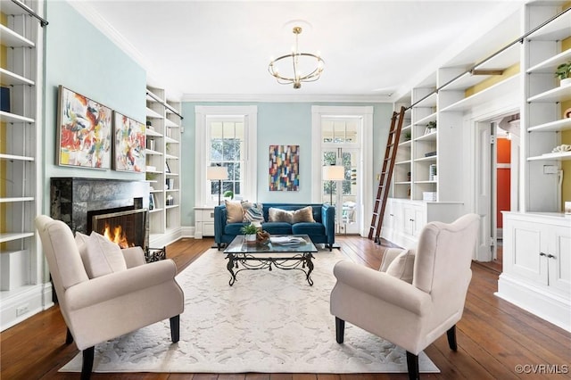
[[[164,89],[147,87],[146,91],[146,179],[153,199],[149,241],[152,246],[161,246],[180,235],[182,116],[180,103],[167,99]]]

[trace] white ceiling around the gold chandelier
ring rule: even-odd
[[[377,101],[400,98],[443,62],[469,66],[513,41],[522,3],[70,2],[171,97]],[[290,52],[297,24],[303,28],[300,51],[319,51],[326,62],[322,77],[300,89],[277,84],[268,72],[270,57]],[[466,50],[476,37],[479,47]]]

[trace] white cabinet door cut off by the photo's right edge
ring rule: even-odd
[[[571,293],[571,232],[567,227],[552,227],[550,234],[549,285],[569,296]]]

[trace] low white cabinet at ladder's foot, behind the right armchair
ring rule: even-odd
[[[450,223],[458,218],[459,202],[422,202],[389,198],[381,236],[401,247],[416,247],[418,236],[429,221]]]

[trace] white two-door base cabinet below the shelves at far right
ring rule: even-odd
[[[499,297],[571,331],[571,217],[504,212]]]

